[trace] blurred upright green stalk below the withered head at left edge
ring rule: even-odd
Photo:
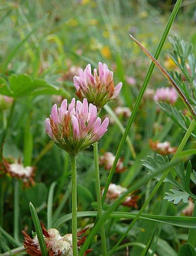
[[[20,184],[16,180],[14,184],[14,239],[19,242],[19,198],[20,198]]]

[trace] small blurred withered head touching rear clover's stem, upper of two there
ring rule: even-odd
[[[106,170],[110,170],[113,165],[114,159],[115,156],[111,152],[106,152],[103,156],[100,157],[99,162],[101,165],[104,166]],[[119,158],[116,164],[116,173],[122,173],[125,170],[126,167],[124,167],[123,159]]]

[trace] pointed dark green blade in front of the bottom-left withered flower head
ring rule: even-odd
[[[36,212],[35,207],[33,206],[33,204],[31,202],[29,203],[29,207],[30,207],[33,223],[34,223],[34,226],[35,226],[35,230],[36,230],[36,233],[37,233],[37,238],[39,240],[41,253],[42,253],[43,256],[47,256],[48,253],[47,253],[45,241],[44,241],[44,238],[43,238],[41,225],[40,225],[40,222],[39,222],[39,219],[38,219],[38,216],[37,216],[37,212]]]

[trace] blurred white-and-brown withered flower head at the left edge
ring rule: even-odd
[[[0,163],[0,172],[6,173],[9,176],[22,180],[24,185],[30,186],[34,185],[36,167],[26,166],[24,167],[20,159],[3,159],[3,163]]]

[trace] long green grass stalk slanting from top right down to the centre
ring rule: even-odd
[[[160,54],[160,52],[161,52],[161,50],[162,50],[162,48],[163,48],[164,42],[165,42],[165,40],[166,40],[166,38],[167,38],[167,35],[168,35],[169,30],[170,30],[170,28],[171,28],[171,25],[172,25],[173,22],[174,22],[174,19],[175,19],[175,17],[176,17],[176,14],[177,14],[179,8],[180,8],[181,3],[182,3],[182,0],[178,0],[178,1],[176,2],[176,5],[175,5],[175,7],[174,7],[174,9],[173,9],[173,11],[172,11],[172,13],[171,13],[169,19],[168,19],[167,25],[166,25],[166,27],[165,27],[165,29],[164,29],[163,35],[162,35],[162,37],[161,37],[161,40],[160,40],[160,42],[159,42],[159,45],[158,45],[157,50],[156,50],[156,53],[155,53],[155,59],[158,59],[158,57],[159,57],[159,54]],[[121,150],[122,150],[122,146],[123,146],[123,144],[124,144],[124,142],[125,142],[125,140],[126,140],[128,134],[129,134],[131,125],[132,125],[133,120],[135,119],[135,116],[136,116],[137,111],[138,111],[138,109],[139,109],[139,105],[140,105],[141,99],[142,99],[143,94],[144,94],[144,92],[145,92],[145,89],[146,89],[146,87],[147,87],[147,85],[148,85],[148,82],[149,82],[149,80],[150,80],[150,78],[151,78],[151,75],[152,75],[152,72],[153,72],[153,70],[154,70],[154,67],[155,67],[155,63],[154,63],[154,62],[151,62],[151,66],[150,66],[150,68],[149,68],[149,70],[148,70],[148,73],[146,74],[145,80],[144,80],[144,82],[143,82],[143,84],[142,84],[141,90],[140,90],[140,92],[139,92],[139,95],[138,95],[138,97],[137,97],[137,99],[136,99],[136,102],[135,102],[135,105],[134,105],[134,107],[133,107],[133,110],[132,110],[132,113],[131,113],[131,117],[129,118],[128,124],[127,124],[127,126],[126,126],[125,133],[124,133],[124,135],[122,136],[122,139],[121,139],[121,141],[120,141],[120,143],[119,143],[119,145],[118,145],[118,149],[117,149],[117,152],[116,152],[115,160],[114,160],[114,163],[113,163],[112,168],[111,168],[111,170],[110,170],[110,173],[109,173],[109,175],[108,175],[108,179],[107,179],[106,186],[105,186],[105,189],[104,189],[104,193],[103,193],[103,196],[102,196],[102,203],[104,203],[104,201],[105,201],[109,184],[110,184],[110,182],[111,182],[111,180],[112,180],[112,177],[113,177],[113,174],[114,174],[114,171],[115,171],[116,164],[117,164],[118,159],[119,159],[119,157],[120,157],[120,153],[121,153]],[[129,174],[129,173],[128,173],[128,174]],[[129,175],[128,175],[127,177],[129,178]],[[128,178],[125,178],[125,181],[124,181],[125,183],[127,183],[127,179],[128,179]]]

